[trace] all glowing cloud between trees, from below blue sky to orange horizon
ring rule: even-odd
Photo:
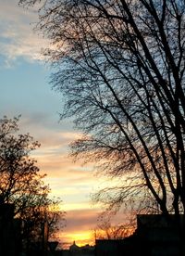
[[[68,157],[68,143],[78,138],[80,133],[68,128],[68,125],[54,123],[44,114],[32,115],[20,119],[21,132],[26,133],[29,127],[31,134],[37,134],[42,143],[35,150],[33,157],[37,160],[42,173],[47,173],[45,183],[49,184],[51,197],[63,200],[62,211],[67,211],[67,226],[59,233],[66,247],[73,240],[77,244],[93,244],[93,228],[96,225],[98,207],[93,206],[90,194],[96,183],[93,166],[81,166]],[[27,127],[27,128],[25,128]]]

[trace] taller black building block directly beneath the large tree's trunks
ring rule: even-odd
[[[175,215],[137,215],[137,237],[140,240],[142,255],[149,256],[182,256],[185,255],[182,234],[184,216]]]

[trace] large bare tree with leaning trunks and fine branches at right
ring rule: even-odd
[[[132,177],[112,202],[147,191],[166,216],[184,214],[185,2],[20,4],[38,2],[38,28],[53,44],[45,51],[56,68],[52,83],[66,99],[61,117],[84,132],[73,155],[99,161],[99,172]]]

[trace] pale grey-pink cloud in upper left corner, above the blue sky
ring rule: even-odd
[[[0,0],[0,5],[0,55],[5,58],[4,66],[11,67],[18,58],[42,60],[41,48],[48,43],[32,30],[37,13],[21,8],[17,0]]]

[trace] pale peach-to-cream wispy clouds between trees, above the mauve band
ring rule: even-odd
[[[29,127],[30,133],[37,134],[37,139],[42,144],[32,157],[37,160],[41,172],[47,174],[45,182],[51,186],[52,195],[64,200],[65,210],[87,208],[91,200],[90,193],[96,182],[93,166],[82,166],[82,161],[74,162],[68,156],[69,142],[79,138],[80,133],[70,131],[69,127],[57,127],[56,123],[51,125],[48,122],[47,116],[44,115],[40,118],[32,116],[31,119],[21,119],[21,127]]]

